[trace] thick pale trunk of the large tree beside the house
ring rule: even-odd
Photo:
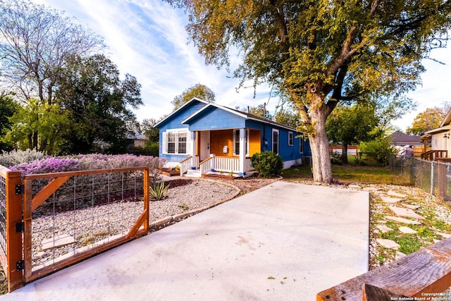
[[[315,95],[310,111],[314,133],[309,135],[313,180],[320,183],[332,183],[332,167],[330,165],[329,142],[326,135],[326,118],[330,109],[323,104],[320,95]],[[318,104],[319,102],[319,104]],[[316,104],[315,104],[316,103]]]

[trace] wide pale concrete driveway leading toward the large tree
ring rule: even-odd
[[[279,181],[0,300],[316,300],[368,256],[368,192]]]

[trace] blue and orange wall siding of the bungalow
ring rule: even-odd
[[[205,107],[206,106],[206,107]],[[202,108],[204,108],[202,110]],[[200,110],[200,111],[199,111]],[[191,116],[191,117],[190,117]],[[186,123],[184,124],[183,121]],[[244,113],[236,113],[231,109],[221,108],[221,106],[207,105],[193,99],[191,103],[183,106],[179,111],[175,111],[166,120],[157,125],[160,129],[160,149],[161,158],[166,159],[169,164],[177,164],[190,155],[199,156],[201,149],[201,139],[199,133],[209,132],[209,153],[216,156],[233,156],[233,135],[234,130],[247,129],[249,131],[249,156],[258,152],[271,151],[273,147],[273,130],[278,130],[278,154],[284,161],[284,167],[288,168],[293,164],[302,163],[302,157],[311,156],[309,142],[299,138],[301,133],[296,130],[285,128],[283,125],[266,123],[248,118]],[[163,139],[168,130],[189,130],[196,132],[197,147],[187,147],[187,154],[163,154]],[[288,142],[288,133],[293,133],[292,145]],[[190,135],[187,137],[187,146],[190,142]],[[265,141],[267,144],[265,145]],[[304,152],[300,153],[300,143],[304,146]],[[223,152],[223,147],[227,147],[227,152]],[[205,149],[206,145],[202,145]],[[197,154],[191,154],[191,152]],[[236,157],[236,156],[235,156]]]

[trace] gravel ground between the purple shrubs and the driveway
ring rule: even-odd
[[[166,199],[149,203],[150,223],[209,207],[216,202],[230,199],[239,192],[233,185],[209,180],[175,180],[171,181],[171,185],[173,188],[170,186]],[[111,240],[116,235],[125,235],[142,213],[143,207],[142,201],[117,202],[34,218],[33,266],[51,264],[54,259],[64,254],[76,252],[106,239]],[[170,223],[164,223],[163,226],[168,224]],[[53,247],[54,240],[63,241],[66,238],[69,242],[67,245]],[[45,240],[50,240],[49,248],[45,247]],[[58,245],[58,242],[55,245]]]

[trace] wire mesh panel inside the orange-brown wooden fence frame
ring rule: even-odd
[[[53,178],[32,181],[32,198]],[[144,171],[71,176],[32,211],[32,272],[127,235],[144,211]]]

